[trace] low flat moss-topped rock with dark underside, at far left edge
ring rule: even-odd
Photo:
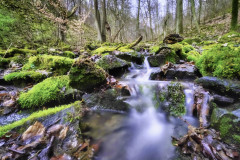
[[[12,72],[4,76],[7,82],[13,82],[15,85],[24,85],[27,83],[37,83],[47,78],[48,73],[43,71],[21,71]]]

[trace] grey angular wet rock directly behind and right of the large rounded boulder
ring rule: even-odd
[[[130,66],[125,60],[113,55],[106,55],[97,60],[96,63],[113,76],[121,76]]]

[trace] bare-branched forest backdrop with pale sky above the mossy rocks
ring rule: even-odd
[[[217,39],[230,29],[231,9],[229,0],[2,0],[0,47],[80,49],[139,35],[156,42],[176,32]]]

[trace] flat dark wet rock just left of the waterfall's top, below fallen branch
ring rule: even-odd
[[[141,53],[138,53],[138,52],[119,52],[119,51],[115,51],[114,54],[120,59],[124,59],[128,62],[135,62],[139,65],[143,64],[143,61],[144,61],[144,56]]]

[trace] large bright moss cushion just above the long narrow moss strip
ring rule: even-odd
[[[68,76],[47,78],[27,93],[21,93],[18,103],[22,108],[39,108],[52,101],[60,101],[64,97],[63,88],[70,89]]]

